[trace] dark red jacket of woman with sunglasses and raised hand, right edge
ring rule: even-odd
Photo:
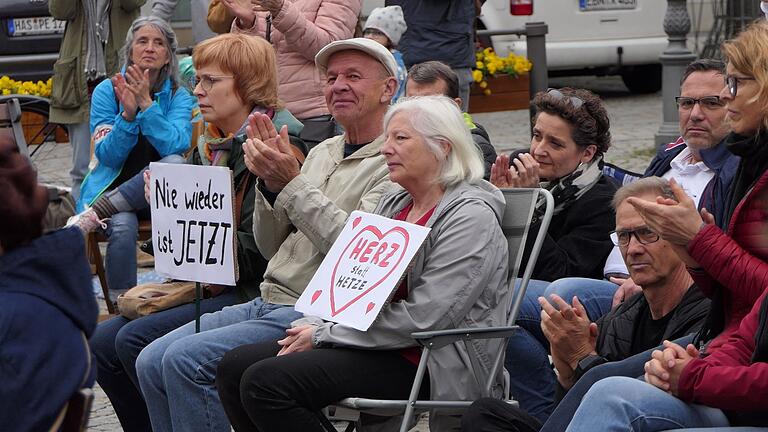
[[[706,225],[688,245],[688,253],[704,269],[691,270],[699,288],[708,296],[722,291],[725,328],[709,343],[711,351],[736,332],[768,286],[768,171],[736,206],[728,234]]]

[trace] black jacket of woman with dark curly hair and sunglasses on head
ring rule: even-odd
[[[555,215],[533,270],[533,279],[603,278],[603,265],[613,249],[610,232],[616,227],[611,207],[616,186],[605,176],[570,207]],[[538,232],[533,225],[525,244],[519,274],[523,274]]]

